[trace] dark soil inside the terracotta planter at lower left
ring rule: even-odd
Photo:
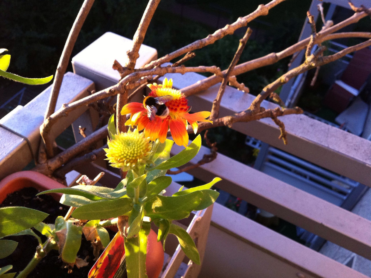
[[[48,213],[49,216],[43,221],[44,223],[54,224],[57,216],[65,216],[68,207],[55,201],[50,195],[36,196],[38,191],[35,188],[29,187],[15,193],[9,194],[0,207],[4,206],[24,206],[34,208],[36,210]],[[5,265],[13,265],[10,272],[21,271],[35,255],[37,240],[33,236],[9,236],[6,239],[12,239],[18,242],[17,249],[12,255],[4,259],[0,259],[0,268]],[[45,240],[46,237],[43,238]],[[58,257],[57,250],[52,250],[45,258],[36,266],[36,268],[27,277],[28,278],[43,278],[43,277],[68,277],[68,278],[81,278],[88,277],[88,272],[94,265],[93,249],[89,241],[82,235],[81,247],[78,256],[85,259],[89,256],[89,265],[78,269],[76,266],[73,272],[68,274],[68,269],[64,268],[62,260]]]

